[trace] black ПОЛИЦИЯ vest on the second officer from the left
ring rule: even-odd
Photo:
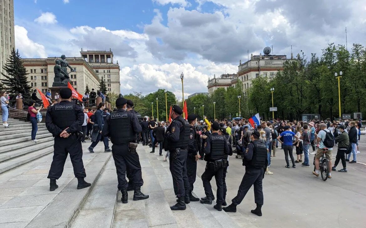
[[[117,111],[111,113],[109,120],[109,131],[113,144],[124,144],[136,138],[132,126],[132,115],[130,112]]]

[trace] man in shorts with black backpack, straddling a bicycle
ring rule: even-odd
[[[330,130],[326,129],[325,123],[321,123],[320,131],[317,136],[317,145],[319,147],[317,148],[317,152],[315,154],[315,171],[313,171],[313,174],[317,177],[319,176],[319,161],[321,156],[323,156],[323,149],[327,148],[323,143],[325,140],[326,132],[330,132]],[[325,157],[329,161],[328,167],[332,167],[332,151],[333,148],[328,148],[328,150],[325,152]],[[332,170],[329,169],[328,178],[332,178],[332,175],[330,174],[331,171]]]

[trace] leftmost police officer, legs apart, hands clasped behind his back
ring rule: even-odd
[[[71,96],[71,89],[60,89],[60,103],[49,107],[46,113],[47,130],[55,137],[53,160],[47,177],[50,179],[50,191],[54,191],[59,187],[56,180],[62,175],[67,154],[70,154],[74,174],[78,178],[78,189],[87,188],[91,185],[84,181],[86,174],[81,146],[81,126],[84,123],[84,112],[79,105],[71,102]]]

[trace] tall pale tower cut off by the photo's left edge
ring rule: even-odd
[[[15,48],[14,1],[0,0],[0,80],[3,79],[1,72],[5,74],[3,66],[13,48]]]

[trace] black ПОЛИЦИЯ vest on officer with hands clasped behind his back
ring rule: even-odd
[[[70,127],[77,119],[75,112],[76,104],[69,101],[61,101],[52,106],[52,122],[61,130]],[[79,126],[81,131],[81,125]]]

